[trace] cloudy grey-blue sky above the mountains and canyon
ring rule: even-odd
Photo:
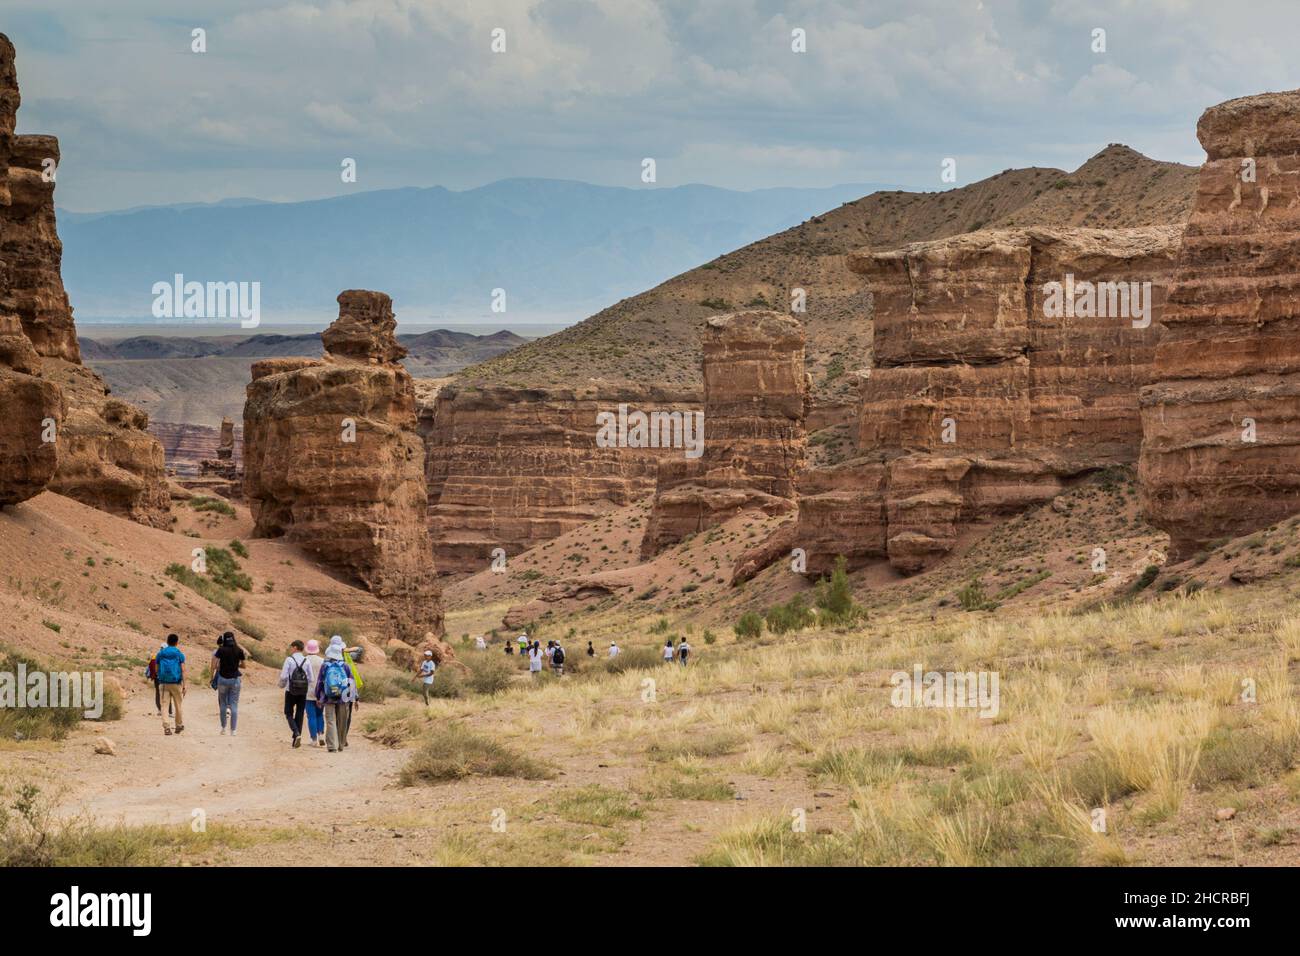
[[[73,211],[1197,164],[1206,107],[1300,86],[1295,0],[4,0],[0,31]]]

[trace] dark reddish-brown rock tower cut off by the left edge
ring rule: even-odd
[[[162,449],[144,431],[148,418],[81,364],[55,225],[58,142],[13,134],[16,77],[0,35],[0,502],[48,488],[166,527]]]

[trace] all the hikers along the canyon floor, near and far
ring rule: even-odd
[[[162,732],[168,736],[185,731],[185,653],[179,644],[179,636],[169,633],[166,644],[159,648],[146,670],[146,676],[153,682],[153,705],[157,708],[159,717],[162,718]],[[485,650],[488,644],[482,637],[478,637],[476,646]],[[564,675],[566,652],[558,640],[546,641],[546,646],[542,648],[541,641],[521,633],[515,641],[506,641],[506,653],[514,654],[516,646],[520,657],[528,657],[530,675],[538,676],[542,672],[543,661],[550,665],[556,676]],[[292,734],[291,747],[302,747],[303,719],[306,718],[307,732],[313,747],[324,747],[329,753],[341,753],[347,749],[347,732],[352,726],[352,711],[360,706],[360,691],[364,685],[361,675],[356,670],[355,650],[347,648],[339,635],[329,639],[324,657],[320,653],[320,643],[315,639],[306,643],[300,640],[290,643],[289,656],[280,669],[278,684],[285,691],[285,721]],[[619,653],[619,645],[610,641],[607,656],[612,659]],[[586,656],[595,657],[595,646],[592,641],[586,643]],[[664,641],[664,663],[685,666],[689,657],[690,644],[686,643],[685,637],[676,646],[673,646],[672,637]],[[230,736],[238,736],[239,691],[243,685],[243,671],[247,661],[248,654],[235,641],[231,631],[226,631],[217,639],[216,650],[212,652],[209,687],[217,692],[221,736],[226,735],[228,722]],[[417,667],[425,704],[429,702],[433,693],[433,679],[437,670],[438,665],[433,652],[425,650]]]

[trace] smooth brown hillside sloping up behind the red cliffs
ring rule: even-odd
[[[807,291],[807,367],[819,406],[849,401],[845,372],[870,362],[870,303],[844,264],[984,226],[1119,228],[1182,222],[1195,170],[1110,146],[1074,173],[1009,169],[942,193],[872,193],[624,299],[585,321],[460,372],[484,385],[602,380],[698,389],[703,320],[738,307],[789,308]],[[818,421],[812,423],[816,427]]]

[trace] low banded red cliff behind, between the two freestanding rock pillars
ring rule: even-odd
[[[672,447],[598,442],[602,414],[689,414],[699,395],[593,382],[523,389],[446,385],[421,416],[429,528],[439,571],[482,571],[654,492]]]

